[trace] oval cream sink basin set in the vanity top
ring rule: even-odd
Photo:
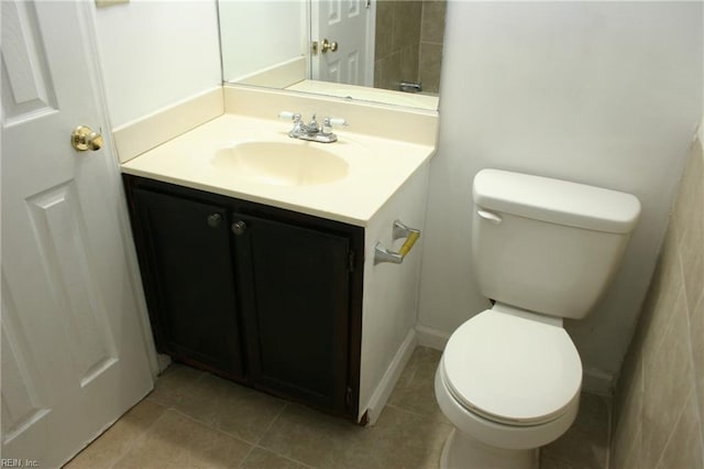
[[[346,161],[320,148],[320,143],[302,141],[238,143],[218,150],[212,164],[238,176],[278,186],[332,183],[349,172]]]

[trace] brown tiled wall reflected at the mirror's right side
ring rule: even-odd
[[[421,81],[438,92],[446,0],[384,0],[376,4],[374,86],[398,90],[400,81]]]

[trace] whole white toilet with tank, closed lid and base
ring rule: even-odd
[[[537,468],[572,425],[582,362],[562,327],[616,273],[640,215],[625,193],[499,170],[473,183],[473,264],[493,307],[450,337],[436,397],[454,426],[442,468]]]

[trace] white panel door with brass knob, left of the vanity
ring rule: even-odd
[[[61,466],[153,386],[117,163],[69,143],[107,131],[90,8],[2,1],[1,438],[23,467]]]

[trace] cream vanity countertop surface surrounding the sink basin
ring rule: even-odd
[[[374,214],[433,154],[432,145],[338,130],[334,143],[290,139],[290,121],[223,114],[122,164],[122,172],[356,226]],[[256,183],[213,164],[218,150],[248,141],[300,142],[349,164],[342,179],[307,186]]]

